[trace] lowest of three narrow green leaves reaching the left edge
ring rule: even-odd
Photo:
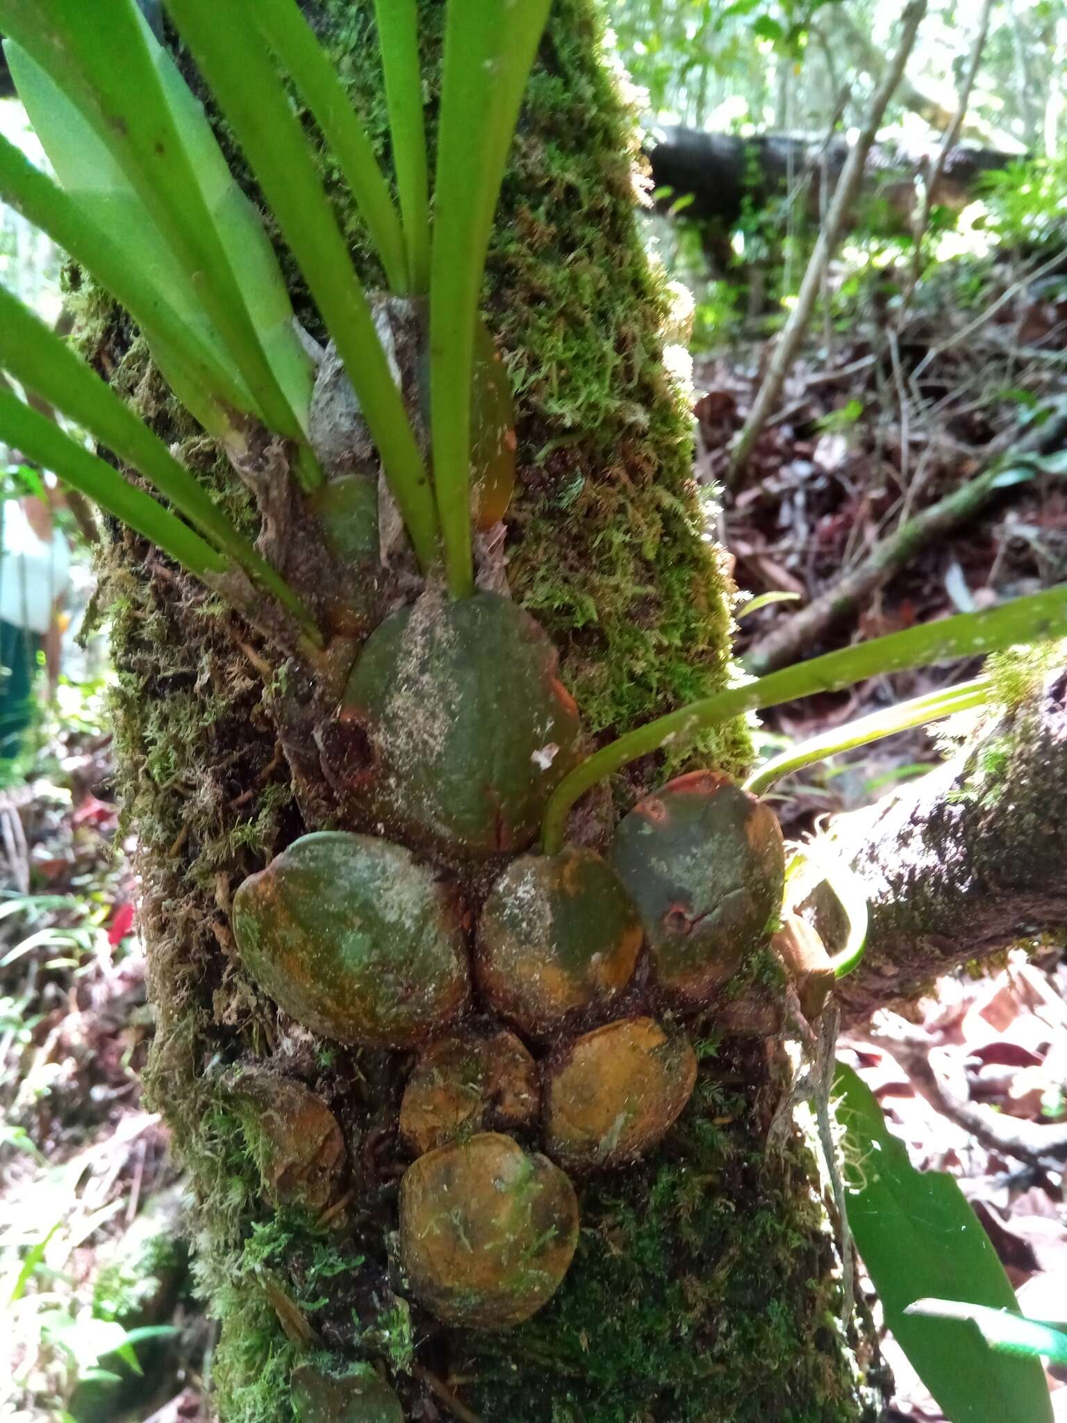
[[[57,424],[27,404],[0,390],[0,438],[16,450],[54,471],[80,494],[87,495],[108,514],[128,524],[144,538],[151,539],[165,554],[191,573],[226,573],[230,564],[206,544],[199,534],[175,518],[162,504],[127,484],[121,474],[104,464],[97,455],[75,444]]]

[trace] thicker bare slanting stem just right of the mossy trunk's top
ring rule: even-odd
[[[925,13],[926,0],[909,0],[909,4],[903,11],[901,43],[896,47],[896,54],[888,65],[882,81],[875,91],[875,97],[871,101],[871,114],[866,121],[866,128],[862,131],[855,147],[845,159],[841,178],[838,178],[838,185],[834,189],[834,201],[829,206],[829,212],[827,213],[827,221],[819,232],[818,242],[815,243],[815,250],[811,253],[807,270],[804,272],[804,280],[801,282],[801,289],[797,293],[797,305],[790,313],[790,319],[785,323],[781,337],[778,339],[767,374],[764,376],[763,384],[755,396],[755,403],[753,404],[748,418],[744,423],[744,428],[741,430],[737,444],[733,448],[730,467],[727,470],[727,484],[731,488],[744,472],[748,455],[753,453],[753,445],[763,433],[774,407],[778,404],[782,386],[785,384],[785,377],[790,373],[790,367],[797,356],[804,333],[811,323],[812,312],[815,310],[815,300],[818,299],[819,285],[822,282],[822,270],[829,263],[829,259],[838,245],[838,239],[845,226],[845,218],[848,216],[848,211],[855,201],[855,195],[864,178],[866,155],[871,152],[875,138],[878,137],[878,128],[882,122],[886,105],[892,98],[893,90],[901,83],[901,77],[908,63],[908,55],[912,51],[915,36]]]

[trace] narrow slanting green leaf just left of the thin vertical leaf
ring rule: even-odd
[[[346,94],[344,85],[293,0],[256,0],[249,7],[249,13],[275,51],[277,63],[287,70],[314,115],[316,124],[341,166],[344,181],[356,199],[363,221],[367,223],[367,232],[381,259],[386,279],[390,287],[403,296],[413,287],[410,255],[404,246],[404,229],[400,225],[374,149],[363,124],[353,112],[351,100]],[[388,61],[386,63],[386,74],[388,75]],[[425,154],[423,155],[423,171],[425,185]],[[403,182],[400,192],[403,203]],[[428,221],[425,211],[423,216],[424,221]]]

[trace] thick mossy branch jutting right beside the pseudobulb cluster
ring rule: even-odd
[[[915,998],[939,975],[1067,925],[1067,675],[920,781],[832,827],[869,895],[846,1020]],[[858,847],[858,848],[855,848]]]

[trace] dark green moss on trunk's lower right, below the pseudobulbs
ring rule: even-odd
[[[578,1255],[549,1306],[468,1343],[475,1413],[485,1423],[855,1420],[832,1247],[807,1185],[814,1164],[800,1150],[781,1163],[763,1151],[755,1093],[704,1070],[656,1157],[585,1187]]]

